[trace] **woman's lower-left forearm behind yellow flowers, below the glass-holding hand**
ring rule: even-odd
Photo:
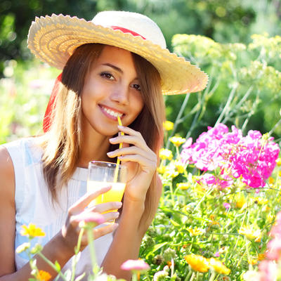
[[[70,251],[66,245],[63,244],[62,240],[60,239],[60,234],[58,234],[55,235],[55,237],[53,237],[53,239],[44,246],[41,254],[46,256],[46,258],[52,263],[58,261],[60,267],[63,268],[65,263],[67,263],[67,261],[73,256],[74,252]],[[36,265],[38,270],[44,270],[50,273],[51,280],[58,275],[58,273],[38,254],[34,256],[33,259],[37,260]],[[30,277],[32,277],[31,270],[30,263],[26,263],[25,266],[20,268],[20,270],[16,271],[15,273],[0,277],[0,281],[27,281]]]

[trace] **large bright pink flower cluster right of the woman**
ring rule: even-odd
[[[235,126],[218,124],[202,133],[195,143],[189,138],[183,145],[183,162],[195,164],[202,171],[221,170],[216,177],[216,184],[221,188],[229,186],[232,178],[242,177],[242,181],[251,188],[262,188],[266,179],[275,168],[280,148],[272,137],[262,136],[259,131],[249,131],[242,136],[242,131]],[[209,181],[207,184],[210,184]]]

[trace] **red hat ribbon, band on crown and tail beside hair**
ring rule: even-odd
[[[120,30],[123,33],[131,33],[133,36],[140,36],[141,38],[146,40],[145,37],[141,36],[141,34],[133,32],[132,30],[127,30],[124,27],[111,26],[111,28],[112,28],[112,30]],[[46,133],[51,126],[51,115],[52,115],[53,109],[55,107],[55,97],[58,94],[58,89],[59,89],[59,84],[61,82],[61,77],[62,77],[62,73],[60,73],[58,75],[58,77],[55,79],[55,84],[53,85],[53,90],[52,90],[52,93],[51,93],[51,96],[50,96],[50,100],[48,100],[48,105],[47,105],[46,112],[45,112],[44,119],[43,119],[44,133]]]

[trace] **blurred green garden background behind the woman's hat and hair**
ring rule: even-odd
[[[52,13],[91,20],[105,10],[148,15],[171,52],[209,74],[202,93],[165,97],[167,119],[175,123],[170,134],[197,138],[207,126],[223,122],[244,133],[270,132],[279,141],[281,0],[2,0],[0,143],[41,133],[60,73],[27,49],[32,20]]]

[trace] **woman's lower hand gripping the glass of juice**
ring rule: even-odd
[[[100,224],[96,221],[96,214],[103,213],[105,211],[119,209],[122,206],[121,202],[108,202],[103,204],[98,204],[93,207],[89,207],[85,209],[92,200],[94,200],[98,195],[103,194],[110,190],[111,187],[101,188],[93,193],[86,193],[83,197],[81,197],[75,204],[68,209],[67,220],[62,229],[62,235],[65,244],[71,251],[73,251],[74,247],[77,245],[77,240],[79,236],[79,232],[81,228],[79,227],[79,223],[81,221],[93,221],[97,225]],[[103,222],[111,221],[118,218],[119,213],[116,211],[111,211],[106,214],[102,214]],[[106,235],[107,233],[112,233],[117,228],[117,223],[112,223],[107,226],[103,226],[100,228],[93,228],[93,237],[97,239],[100,236]],[[81,240],[81,249],[84,249],[88,244],[86,233],[84,233]]]

